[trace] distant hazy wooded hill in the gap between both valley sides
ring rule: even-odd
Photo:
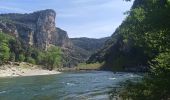
[[[104,46],[104,43],[109,38],[110,37],[94,39],[94,38],[82,37],[82,38],[71,38],[71,41],[78,48],[85,50],[86,53],[88,53],[90,56],[91,54],[95,53],[98,49],[100,49],[102,46]]]

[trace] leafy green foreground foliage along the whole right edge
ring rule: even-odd
[[[121,91],[125,100],[170,99],[170,1],[135,0],[121,28],[125,42],[143,48],[150,70],[141,82]]]

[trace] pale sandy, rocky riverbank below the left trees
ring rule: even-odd
[[[25,62],[10,62],[8,64],[0,66],[0,77],[50,75],[59,73],[61,72],[58,72],[56,70],[49,71],[47,69],[43,69],[42,66],[33,65]]]

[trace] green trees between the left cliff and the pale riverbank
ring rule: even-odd
[[[61,50],[55,46],[50,47],[47,51],[27,47],[22,44],[22,41],[0,33],[0,64],[8,61],[40,64],[52,70],[55,67],[60,67]]]

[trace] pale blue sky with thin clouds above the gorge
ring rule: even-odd
[[[124,0],[0,0],[0,13],[31,13],[54,9],[56,26],[69,37],[111,36],[133,2]]]

